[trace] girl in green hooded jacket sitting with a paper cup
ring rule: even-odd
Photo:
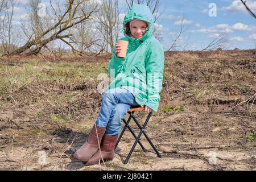
[[[147,113],[158,110],[164,51],[152,36],[153,23],[154,17],[146,5],[134,5],[123,20],[125,37],[120,40],[129,42],[126,57],[117,57],[121,46],[116,44],[108,68],[115,79],[102,96],[100,113],[86,143],[74,155],[86,165],[114,158],[122,118],[130,107],[144,105]]]

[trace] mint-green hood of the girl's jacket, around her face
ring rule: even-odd
[[[130,22],[133,19],[143,20],[143,21],[148,22],[148,24],[149,24],[149,28],[147,29],[146,34],[140,39],[146,39],[146,38],[152,36],[154,16],[152,15],[152,12],[148,6],[146,6],[146,5],[132,6],[130,11],[125,15],[125,18],[123,19],[123,26],[125,26],[125,24],[127,22]],[[123,31],[123,34],[125,34],[125,31]],[[130,38],[126,34],[125,34],[125,36],[127,38]]]

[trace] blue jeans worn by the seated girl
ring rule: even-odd
[[[131,106],[140,106],[128,90],[116,88],[107,90],[102,96],[101,109],[96,125],[107,127],[105,134],[117,135],[122,127],[122,119]]]

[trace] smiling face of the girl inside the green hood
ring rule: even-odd
[[[139,39],[144,36],[147,29],[147,23],[143,22],[142,20],[138,20],[131,24],[131,35],[134,38]]]

